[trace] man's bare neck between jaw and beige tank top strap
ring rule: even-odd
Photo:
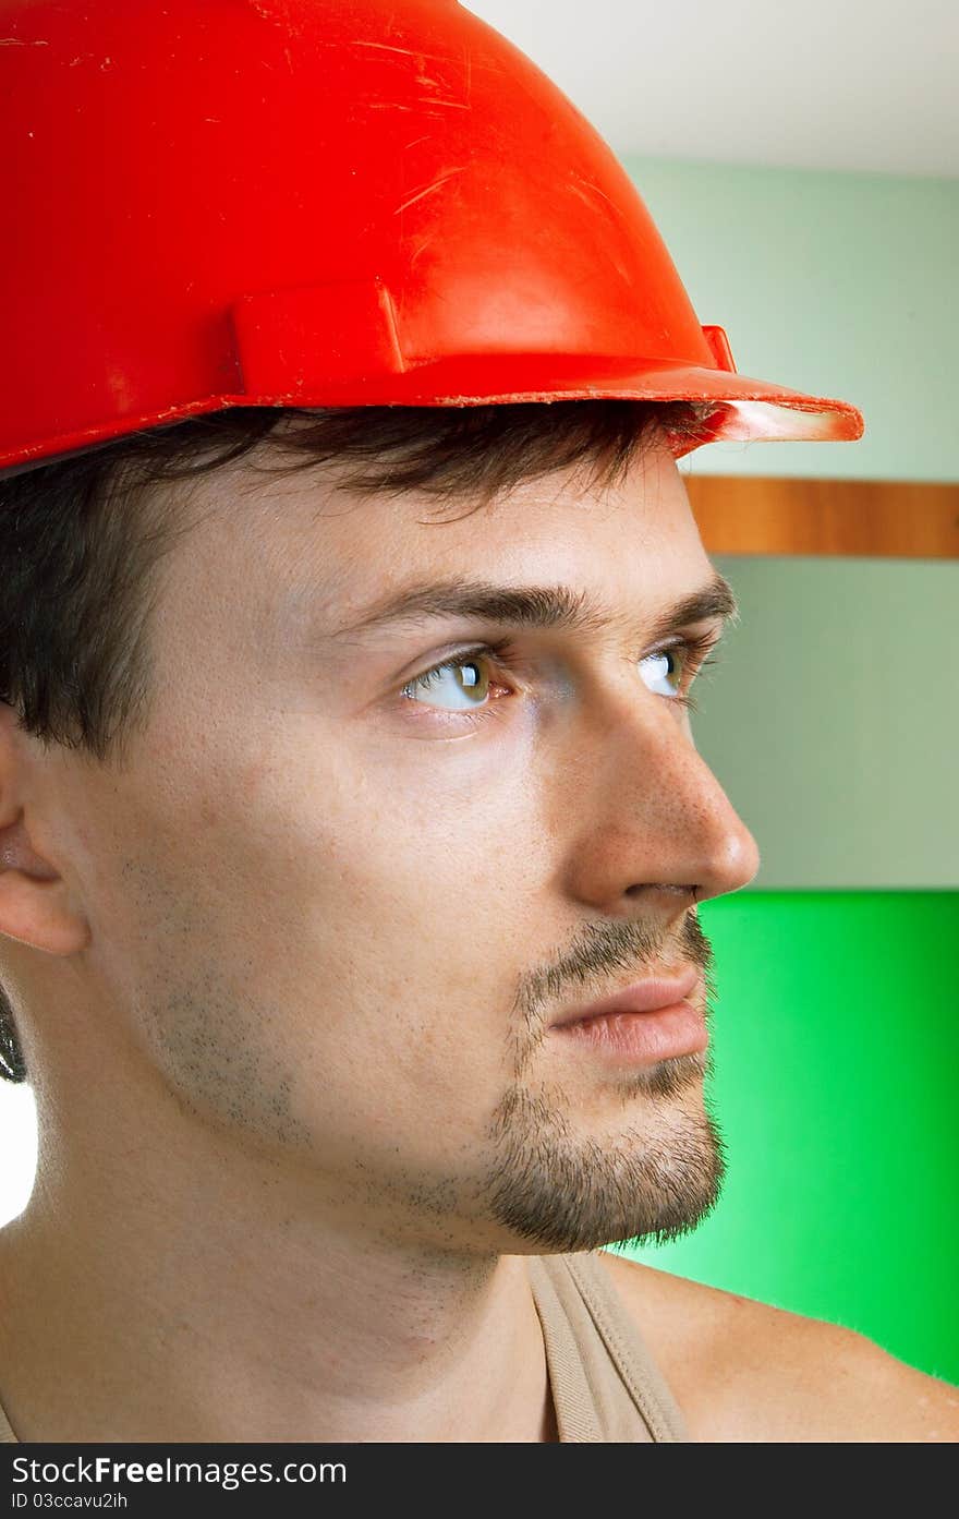
[[[520,1256],[401,1244],[382,1208],[320,1215],[302,1176],[240,1171],[222,1141],[71,1144],[47,1167],[41,1144],[0,1232],[18,1438],[557,1438]]]

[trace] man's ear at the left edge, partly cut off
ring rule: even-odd
[[[0,702],[0,934],[49,954],[76,954],[90,943],[90,925],[33,848],[23,737],[14,708]]]

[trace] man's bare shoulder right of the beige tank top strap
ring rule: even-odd
[[[959,1390],[854,1329],[599,1259],[693,1440],[959,1442]]]

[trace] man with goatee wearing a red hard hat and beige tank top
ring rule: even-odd
[[[77,150],[11,317],[0,978],[41,1154],[8,1438],[954,1440],[868,1340],[599,1249],[719,1195],[696,910],[757,869],[689,728],[734,603],[675,459],[860,419],[734,375],[561,97],[404,9],[193,8],[187,50],[171,0],[6,6],[14,111],[90,88],[130,163],[167,134],[109,237]],[[171,149],[225,118],[205,210]],[[543,123],[577,193],[536,223]],[[384,141],[435,155],[401,199]],[[320,158],[325,283],[290,225]]]

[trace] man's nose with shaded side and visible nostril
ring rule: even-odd
[[[675,910],[677,893],[689,907],[753,880],[756,840],[666,699],[604,702],[575,729],[566,823],[557,819],[572,895],[621,916],[657,893],[669,892]]]

